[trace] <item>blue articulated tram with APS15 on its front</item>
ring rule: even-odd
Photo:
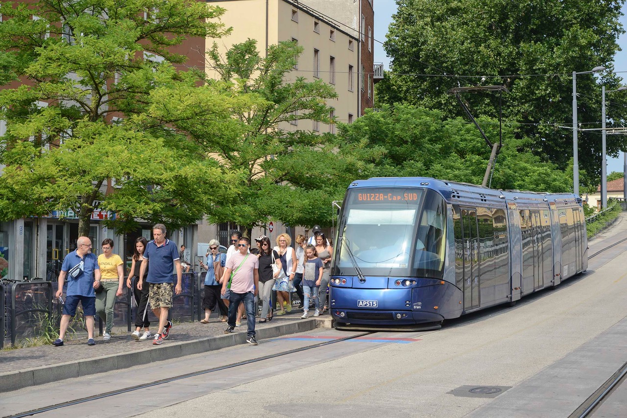
[[[340,211],[339,329],[427,330],[587,269],[581,198],[425,177],[356,180]]]

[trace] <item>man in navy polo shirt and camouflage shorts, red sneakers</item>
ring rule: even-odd
[[[181,260],[176,244],[166,238],[166,226],[156,224],[152,227],[153,240],[146,244],[144,261],[139,268],[137,288],[142,290],[144,272],[148,268],[146,281],[150,286],[148,300],[152,313],[159,318],[159,330],[152,343],[159,345],[170,335],[172,323],[167,320],[167,314],[172,308],[172,270],[176,267],[176,294],[182,291],[181,287]]]

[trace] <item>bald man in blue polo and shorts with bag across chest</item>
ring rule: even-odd
[[[70,324],[70,316],[76,315],[76,306],[79,301],[83,305],[85,325],[87,325],[87,345],[95,345],[93,316],[96,315],[96,294],[93,289],[99,286],[97,282],[100,282],[100,268],[98,268],[98,259],[92,253],[92,241],[87,237],[78,237],[76,244],[78,247],[63,259],[61,273],[59,273],[59,290],[56,291],[56,297],[61,298],[63,295],[66,277],[68,290],[63,304],[59,338],[53,342],[56,347],[63,345],[63,338]]]

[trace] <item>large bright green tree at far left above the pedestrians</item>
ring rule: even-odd
[[[211,119],[233,128],[231,108],[246,99],[177,70],[186,57],[171,52],[186,38],[226,33],[223,9],[41,0],[0,12],[0,219],[72,210],[87,235],[102,209],[115,212],[108,223],[120,232],[137,218],[179,227],[230,194],[218,162],[181,126]],[[178,111],[186,105],[192,112]],[[162,117],[170,109],[180,125]]]

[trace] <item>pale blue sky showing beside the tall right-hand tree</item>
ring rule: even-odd
[[[383,63],[386,70],[389,70],[389,58],[387,58],[381,42],[386,40],[387,26],[389,26],[392,21],[394,12],[396,12],[396,1],[374,0],[374,62]],[[623,13],[626,12],[627,6],[623,6]],[[625,16],[621,17],[621,23],[623,23],[624,28],[627,29],[627,18]],[[616,53],[614,71],[624,73],[623,78],[627,78],[627,34],[623,34],[618,39],[618,44],[622,48],[622,51]],[[586,69],[576,69],[576,71],[586,71]],[[627,94],[627,92],[622,94]],[[571,100],[570,97],[569,100]],[[601,103],[599,103],[599,106],[601,106]],[[613,171],[623,171],[622,154],[617,159],[608,159],[608,174]]]

